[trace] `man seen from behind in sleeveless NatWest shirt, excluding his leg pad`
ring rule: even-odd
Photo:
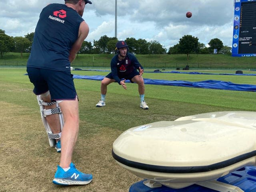
[[[52,101],[57,101],[64,117],[62,132],[58,114],[46,117],[52,133],[59,136],[61,134],[60,164],[52,181],[59,185],[88,184],[92,181],[91,174],[78,171],[72,163],[79,115],[78,96],[70,63],[89,32],[89,27],[82,18],[87,3],[92,4],[89,0],[65,0],[65,4],[49,4],[43,8],[27,63],[28,76],[34,84],[34,94],[41,96],[46,103],[45,109],[54,108]],[[57,144],[60,150],[60,140]]]

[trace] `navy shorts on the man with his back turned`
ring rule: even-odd
[[[48,90],[52,100],[75,100],[76,89],[70,71],[54,71],[27,67],[30,82],[34,84],[34,94],[40,95]]]

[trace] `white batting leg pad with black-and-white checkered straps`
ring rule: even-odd
[[[57,102],[54,101],[54,102],[50,102],[50,103],[44,102],[40,95],[37,96],[37,101],[40,106],[41,118],[42,118],[42,122],[44,124],[44,128],[46,130],[46,133],[48,135],[49,144],[51,147],[54,147],[56,144],[56,139],[60,139],[60,137],[61,137],[61,132],[58,134],[52,133],[52,129],[51,129],[50,125],[48,124],[48,122],[46,121],[46,116],[52,115],[52,114],[58,114],[59,120],[60,120],[60,128],[62,130],[62,128],[64,126],[64,118],[63,118],[62,112],[60,110],[60,106],[58,105],[58,103],[60,103],[61,101],[57,101]],[[56,104],[56,108],[45,109],[45,107],[44,107],[44,106],[50,106],[53,104]]]

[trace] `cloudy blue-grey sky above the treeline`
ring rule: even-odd
[[[115,36],[115,0],[91,0],[83,18],[90,27],[86,41],[101,36]],[[0,1],[0,29],[9,36],[34,32],[39,14],[49,3],[64,0],[8,0]],[[205,45],[219,38],[224,45],[232,45],[233,0],[117,0],[117,38],[134,37],[156,40],[165,48],[179,42],[184,35],[192,35]],[[186,18],[186,12],[192,12]]]

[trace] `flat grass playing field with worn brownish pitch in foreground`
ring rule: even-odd
[[[214,71],[200,71],[212,72]],[[145,85],[149,110],[140,108],[137,84],[124,90],[108,86],[106,106],[96,108],[100,81],[75,79],[79,96],[80,131],[73,162],[94,179],[86,186],[62,187],[52,184],[60,154],[50,148],[26,68],[0,68],[0,191],[127,192],[142,180],[130,174],[111,156],[112,143],[128,128],[181,116],[214,111],[256,111],[256,92]],[[80,75],[108,72],[72,71]],[[225,73],[217,71],[215,73]],[[226,73],[235,73],[228,71]],[[256,73],[248,71],[244,73]],[[164,80],[223,80],[256,84],[255,76],[144,73],[144,78]]]

